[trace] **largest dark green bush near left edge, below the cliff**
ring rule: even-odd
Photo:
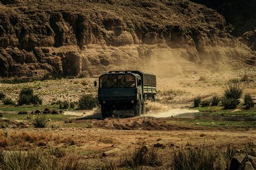
[[[33,89],[31,87],[22,88],[19,93],[18,105],[23,104],[42,104],[42,99],[38,95],[33,94]]]

